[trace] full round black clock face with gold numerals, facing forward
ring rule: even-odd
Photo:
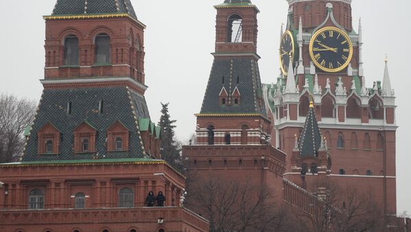
[[[310,56],[321,70],[337,73],[351,62],[353,44],[344,31],[336,27],[324,27],[312,36]]]

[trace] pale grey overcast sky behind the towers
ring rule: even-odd
[[[56,0],[8,1],[0,14],[0,93],[38,101],[45,63],[45,23]],[[145,32],[147,103],[151,119],[160,118],[160,102],[170,102],[177,120],[177,136],[187,140],[195,130],[210,75],[214,51],[216,11],[223,0],[132,0]],[[286,0],[253,0],[258,16],[258,54],[263,83],[279,73],[279,27],[286,23]],[[411,213],[410,133],[411,1],[353,0],[353,26],[362,17],[366,84],[382,81],[388,53],[390,77],[397,96],[397,209]]]

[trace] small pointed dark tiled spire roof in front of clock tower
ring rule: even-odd
[[[319,129],[318,122],[314,107],[310,103],[306,123],[304,124],[301,138],[299,141],[299,152],[301,157],[315,156],[319,154],[321,147],[321,131]]]

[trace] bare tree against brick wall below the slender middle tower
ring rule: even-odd
[[[288,214],[266,185],[212,175],[189,179],[186,206],[210,220],[210,231],[287,231]]]

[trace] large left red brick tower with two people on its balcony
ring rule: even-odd
[[[44,90],[21,162],[0,164],[0,231],[208,231],[160,159],[131,2],[58,0],[44,18]]]

